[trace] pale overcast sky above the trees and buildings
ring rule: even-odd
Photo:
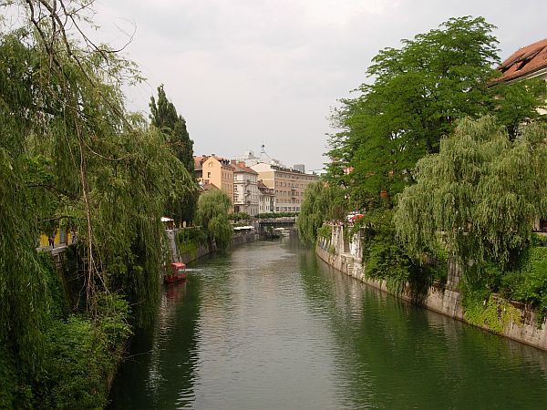
[[[246,150],[320,169],[328,117],[366,81],[378,50],[400,46],[450,17],[484,16],[498,29],[501,59],[547,37],[547,1],[482,0],[100,0],[100,36],[146,82],[129,108],[149,113],[156,87],[187,121],[195,154]]]

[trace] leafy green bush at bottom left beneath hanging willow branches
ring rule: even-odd
[[[113,294],[98,295],[98,322],[84,316],[56,321],[46,331],[49,358],[35,386],[39,408],[102,408],[107,378],[130,334],[129,305]]]

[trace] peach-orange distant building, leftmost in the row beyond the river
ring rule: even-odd
[[[212,154],[194,157],[194,175],[201,186],[214,185],[233,202],[233,167],[229,159]]]

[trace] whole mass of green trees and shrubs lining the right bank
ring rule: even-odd
[[[333,207],[364,215],[351,231],[363,236],[367,275],[401,289],[442,281],[443,265],[457,258],[461,286],[484,305],[484,292],[501,292],[540,306],[547,272],[524,266],[536,249],[533,220],[547,215],[537,110],[546,84],[492,82],[500,61],[493,28],[481,17],[451,18],[381,50],[367,69],[372,82],[333,113],[340,131],[330,138],[324,183],[340,188]],[[325,221],[332,211],[318,207],[322,195],[305,192],[298,223],[306,240],[315,239],[318,215]],[[543,266],[542,252],[532,253]]]

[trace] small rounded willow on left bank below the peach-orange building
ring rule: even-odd
[[[210,243],[214,240],[221,252],[226,251],[232,240],[233,230],[228,220],[231,208],[232,200],[222,190],[204,192],[198,200],[196,219],[207,231]]]

